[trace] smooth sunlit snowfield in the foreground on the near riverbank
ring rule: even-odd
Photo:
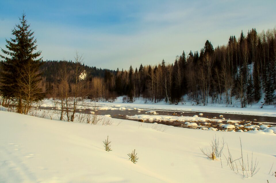
[[[129,104],[127,104],[129,105]],[[137,104],[136,104],[137,105]],[[134,105],[133,105],[134,106]],[[164,105],[165,106],[165,105]],[[103,126],[64,122],[0,111],[0,182],[275,182],[276,135],[177,128],[111,119]],[[233,159],[257,157],[249,178],[200,151],[223,138]],[[105,139],[112,151],[104,150]],[[135,149],[136,164],[128,153]],[[223,153],[228,157],[225,147]],[[274,164],[273,164],[274,163]],[[273,165],[273,166],[272,166]],[[272,166],[272,170],[270,172]],[[269,175],[270,172],[270,175]]]

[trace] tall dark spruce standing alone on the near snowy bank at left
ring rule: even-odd
[[[6,48],[1,51],[4,55],[0,57],[5,60],[1,71],[1,94],[5,98],[15,101],[18,113],[27,114],[33,102],[43,98],[39,83],[41,74],[39,67],[41,51],[34,52],[37,49],[34,39],[34,32],[29,29],[25,13],[19,18],[20,23],[12,29],[12,35],[15,38],[6,39]]]

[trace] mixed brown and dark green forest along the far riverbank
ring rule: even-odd
[[[1,62],[3,67],[5,61]],[[77,97],[96,101],[112,102],[125,96],[124,102],[143,98],[177,104],[188,102],[183,98],[187,95],[189,101],[203,105],[232,105],[235,99],[245,107],[262,98],[275,104],[276,28],[241,31],[222,46],[214,47],[206,40],[200,51],[183,51],[172,64],[163,59],[157,65],[130,65],[114,71],[84,65],[80,56],[74,61],[39,62],[39,85],[48,98],[66,92],[66,96],[77,93]]]

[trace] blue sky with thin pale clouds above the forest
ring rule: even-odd
[[[215,47],[241,30],[275,28],[275,7],[275,0],[3,0],[0,47],[24,12],[43,60],[74,61],[78,52],[85,65],[139,68],[173,63],[206,40]]]

